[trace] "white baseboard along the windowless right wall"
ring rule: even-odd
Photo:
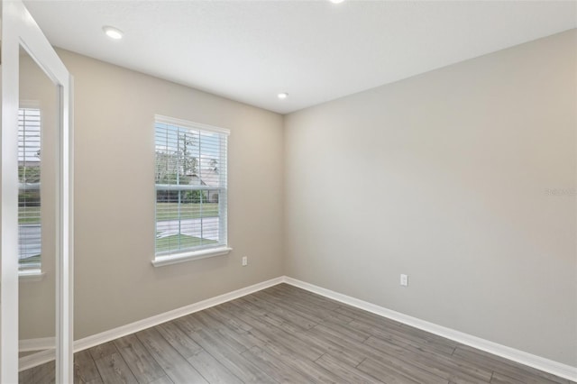
[[[464,334],[463,332],[455,331],[451,328],[435,325],[425,320],[418,319],[417,317],[404,315],[385,307],[377,306],[358,298],[346,296],[330,289],[321,288],[298,279],[292,279],[285,276],[283,282],[298,288],[307,289],[310,292],[324,297],[332,298],[349,306],[355,306],[373,314],[388,317],[389,319],[396,320],[399,323],[414,326],[431,334],[438,334],[439,336],[446,337],[447,339],[451,339],[457,343],[463,343],[481,351],[490,352],[511,361],[517,361],[518,363],[536,368],[537,370],[552,373],[556,376],[562,377],[563,379],[577,381],[577,367],[572,367],[571,365],[566,365],[528,352],[519,351],[505,345],[493,343],[489,340],[481,339],[481,337],[473,336],[472,334]]]

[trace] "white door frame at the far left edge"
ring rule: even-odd
[[[73,356],[72,79],[21,0],[2,1],[2,226],[0,382],[18,382],[18,106],[22,47],[58,88],[56,382],[71,383]]]

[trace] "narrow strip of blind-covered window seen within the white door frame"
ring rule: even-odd
[[[18,261],[41,268],[41,112],[18,110]]]

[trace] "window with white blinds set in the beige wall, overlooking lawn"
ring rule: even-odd
[[[221,128],[156,116],[154,265],[230,251],[226,241],[228,134]]]

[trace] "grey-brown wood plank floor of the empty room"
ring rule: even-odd
[[[75,382],[91,384],[571,383],[287,284],[74,361]],[[20,382],[54,382],[54,362],[24,370]]]

